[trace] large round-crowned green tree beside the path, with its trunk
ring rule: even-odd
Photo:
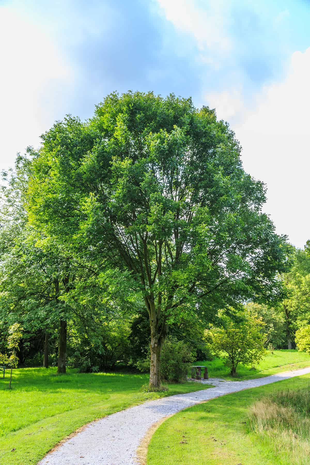
[[[106,301],[143,303],[152,388],[170,325],[208,323],[218,309],[277,297],[285,239],[261,211],[264,185],[244,172],[239,143],[214,110],[174,95],[113,93],[91,120],[69,116],[42,140],[31,221],[96,263]]]

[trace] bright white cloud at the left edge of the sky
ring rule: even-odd
[[[59,118],[56,100],[72,75],[46,33],[14,9],[0,7],[0,43],[0,162],[7,167]]]

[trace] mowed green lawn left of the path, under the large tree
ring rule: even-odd
[[[56,368],[13,370],[0,379],[0,464],[36,464],[46,452],[86,423],[145,400],[197,391],[197,383],[168,385],[168,392],[145,393],[147,374],[77,373]]]

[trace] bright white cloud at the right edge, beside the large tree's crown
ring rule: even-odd
[[[286,78],[264,87],[235,126],[247,172],[268,187],[265,207],[296,246],[310,239],[310,48],[293,53]]]

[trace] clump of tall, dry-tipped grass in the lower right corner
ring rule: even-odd
[[[310,385],[258,400],[249,412],[249,430],[281,463],[310,464]]]

